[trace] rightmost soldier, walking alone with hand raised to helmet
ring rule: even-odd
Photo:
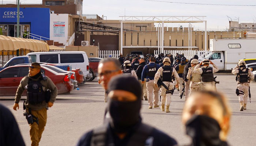
[[[239,61],[238,65],[232,70],[234,75],[237,75],[237,96],[239,97],[240,111],[246,110],[250,82],[254,76],[251,70],[246,69],[245,61]]]

